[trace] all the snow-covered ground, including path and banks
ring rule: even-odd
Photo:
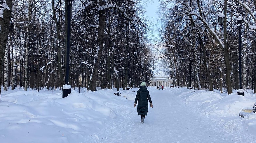
[[[134,99],[138,88],[73,90],[8,90],[0,97],[1,143],[166,143],[256,142],[256,94],[219,94],[187,88],[148,87],[154,108],[140,123]],[[133,92],[134,91],[134,92]],[[126,98],[127,99],[126,99]]]

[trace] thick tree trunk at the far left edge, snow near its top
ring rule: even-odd
[[[6,5],[7,4],[7,5]],[[3,73],[3,64],[4,64],[4,53],[6,50],[6,42],[8,40],[8,34],[9,34],[9,26],[11,21],[11,8],[12,8],[12,0],[4,0],[2,3],[2,6],[5,5],[5,7],[2,7],[2,15],[0,16],[0,73]],[[2,80],[2,76],[0,76],[0,81]],[[1,82],[0,82],[1,87]],[[0,88],[1,93],[1,88]]]

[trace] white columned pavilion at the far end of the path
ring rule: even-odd
[[[171,80],[165,76],[153,76],[150,86],[172,86]]]

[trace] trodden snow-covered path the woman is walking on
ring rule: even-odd
[[[154,108],[149,108],[144,124],[140,123],[137,106],[114,108],[113,110],[120,114],[120,122],[109,129],[108,133],[102,133],[98,138],[100,142],[234,143],[246,140],[239,133],[227,132],[210,117],[202,116],[196,109],[189,108],[168,90],[154,90],[150,95]]]

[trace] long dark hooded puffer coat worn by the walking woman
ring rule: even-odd
[[[135,102],[137,103],[138,101],[138,106],[137,106],[137,112],[138,115],[147,115],[149,103],[152,103],[150,95],[149,95],[149,90],[147,90],[147,86],[140,86],[140,89],[137,91],[137,95],[135,98]]]

